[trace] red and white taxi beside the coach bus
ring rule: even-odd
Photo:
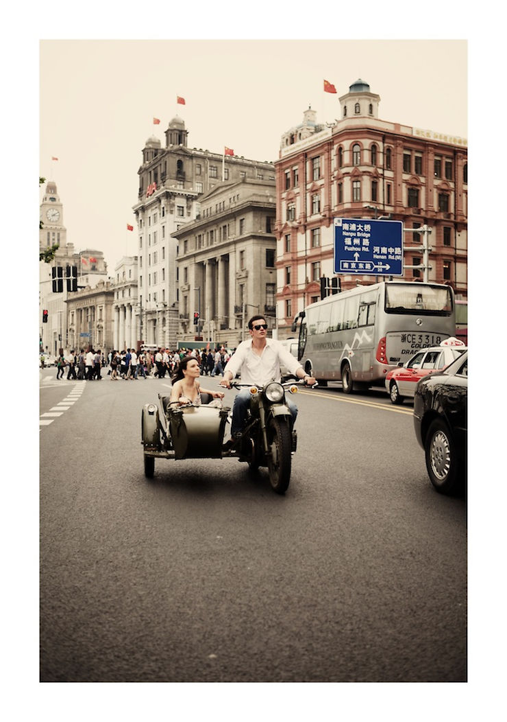
[[[440,346],[420,349],[407,362],[389,371],[385,386],[392,404],[402,404],[405,397],[413,399],[418,380],[430,373],[441,373],[467,350],[465,344],[454,336],[445,339]]]

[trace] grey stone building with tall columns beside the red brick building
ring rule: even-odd
[[[274,224],[273,181],[224,181],[201,197],[199,217],[173,233],[182,341],[235,347],[254,313],[275,328]]]

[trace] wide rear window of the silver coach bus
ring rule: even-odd
[[[451,316],[451,292],[449,288],[422,284],[386,284],[385,311],[418,316]]]

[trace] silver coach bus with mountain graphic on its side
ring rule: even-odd
[[[298,358],[321,386],[384,388],[387,372],[418,349],[456,335],[450,286],[384,281],[330,295],[302,310]]]

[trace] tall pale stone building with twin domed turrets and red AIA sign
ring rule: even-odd
[[[199,214],[199,200],[221,181],[244,178],[274,183],[274,165],[189,148],[188,131],[179,116],[169,121],[165,144],[150,136],[138,168],[136,218],[138,303],[144,342],[174,347],[180,329],[177,287],[177,238],[174,232]],[[132,224],[134,225],[134,224]]]

